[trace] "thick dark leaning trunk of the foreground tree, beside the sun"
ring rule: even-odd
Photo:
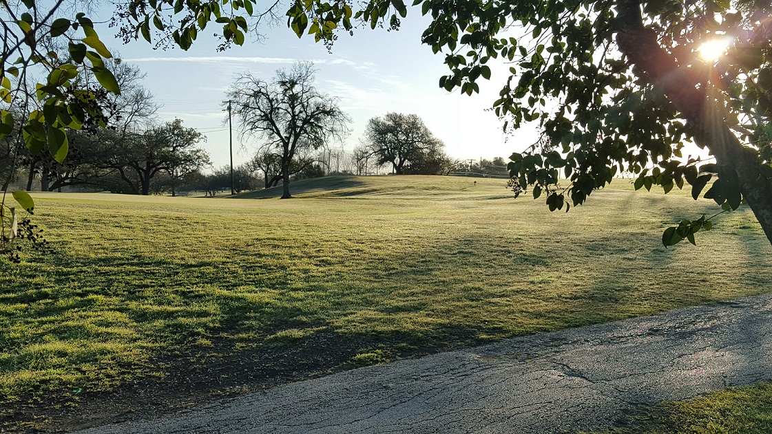
[[[713,103],[704,86],[698,89],[698,83],[659,45],[656,33],[643,26],[639,0],[620,0],[617,10],[620,51],[662,89],[696,131],[696,143],[708,148],[719,167],[737,173],[740,192],[772,243],[772,184],[762,174],[756,154],[732,133],[723,110]]]

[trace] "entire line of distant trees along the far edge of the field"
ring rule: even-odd
[[[159,105],[141,86],[140,69],[120,60],[107,67],[121,93],[100,94],[104,125],[66,130],[67,157],[61,163],[51,153],[29,149],[25,131],[17,128],[0,140],[3,189],[12,184],[24,190],[172,196],[229,191],[230,167],[212,167],[199,147],[205,136],[180,119],[157,119]],[[241,118],[242,136],[262,143],[247,162],[234,167],[236,193],[336,174],[442,175],[469,169],[445,154],[442,140],[415,114],[370,119],[359,146],[344,150],[350,119],[337,99],[313,87],[314,72],[310,62],[300,62],[289,71],[277,71],[271,82],[245,74],[232,86],[229,99]],[[22,106],[12,109],[19,119],[29,117]]]

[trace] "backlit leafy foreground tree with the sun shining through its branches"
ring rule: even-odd
[[[583,204],[616,173],[667,193],[692,185],[723,210],[743,200],[772,243],[772,32],[767,2],[678,0],[416,0],[432,22],[422,42],[445,52],[439,86],[479,92],[493,59],[514,62],[493,103],[504,129],[537,122],[543,137],[513,153],[510,175],[550,210]],[[344,11],[338,13],[339,9]],[[356,12],[339,2],[293,3],[297,35],[333,42],[351,19],[399,26],[401,1],[371,0]],[[400,15],[398,17],[398,15]],[[322,25],[323,23],[323,25]],[[513,34],[522,29],[521,35]],[[506,35],[504,34],[506,32]],[[506,36],[506,37],[503,37]],[[519,38],[516,36],[520,36]],[[723,56],[701,56],[724,42]],[[549,103],[548,103],[549,101]],[[682,157],[692,141],[715,163]],[[558,186],[559,176],[568,179]],[[709,229],[713,217],[682,220],[665,245]]]

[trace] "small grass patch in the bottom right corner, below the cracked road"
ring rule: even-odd
[[[691,401],[663,402],[631,415],[622,426],[592,434],[768,434],[772,385],[709,393]],[[590,434],[590,433],[584,433]]]

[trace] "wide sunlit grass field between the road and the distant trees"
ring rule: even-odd
[[[745,207],[665,249],[665,227],[715,205],[617,180],[550,213],[474,181],[331,177],[296,183],[295,200],[35,195],[55,252],[0,265],[0,420],[57,428],[121,391],[186,390],[185,372],[198,392],[244,391],[769,291],[770,245]],[[232,372],[245,367],[262,376]]]

